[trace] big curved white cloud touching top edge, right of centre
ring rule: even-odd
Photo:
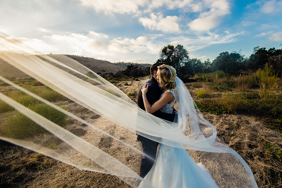
[[[199,18],[190,22],[188,24],[190,29],[194,31],[209,31],[221,23],[223,16],[230,13],[229,3],[225,0],[207,1],[207,3],[211,3],[209,5],[210,10],[202,12]]]

